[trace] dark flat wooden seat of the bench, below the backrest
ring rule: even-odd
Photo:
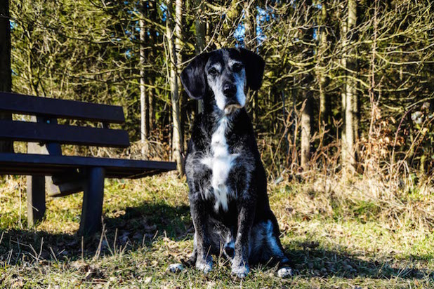
[[[86,156],[0,153],[0,175],[55,175],[66,170],[93,167],[105,168],[106,177],[138,178],[176,170],[176,163]]]

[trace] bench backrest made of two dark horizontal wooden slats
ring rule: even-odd
[[[124,123],[122,107],[97,105],[0,92],[0,112],[37,116],[37,122],[0,120],[0,140],[44,142],[96,147],[129,147],[125,130],[110,129]],[[103,123],[103,128],[59,125],[57,119]]]

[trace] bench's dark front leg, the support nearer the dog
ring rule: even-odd
[[[101,227],[105,170],[104,168],[89,168],[86,177],[79,229],[81,236],[91,236]]]

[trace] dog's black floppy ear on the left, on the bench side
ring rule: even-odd
[[[185,91],[195,100],[203,98],[206,93],[205,65],[208,58],[209,53],[197,55],[180,74]]]

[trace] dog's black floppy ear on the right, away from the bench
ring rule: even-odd
[[[265,61],[261,56],[244,48],[239,48],[239,53],[241,53],[246,69],[247,86],[249,86],[251,90],[258,90],[262,85]]]

